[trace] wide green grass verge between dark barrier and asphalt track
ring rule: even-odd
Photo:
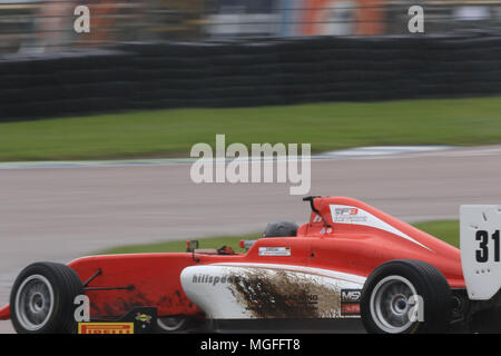
[[[0,161],[187,157],[196,142],[370,145],[501,142],[501,97],[175,109],[0,123]]]

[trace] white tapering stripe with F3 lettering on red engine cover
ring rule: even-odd
[[[406,239],[413,244],[416,244],[421,247],[430,249],[426,246],[424,246],[423,244],[413,239],[412,237],[395,229],[390,224],[375,217],[371,212],[365,211],[364,209],[351,207],[351,206],[346,206],[346,205],[331,205],[330,208],[331,208],[332,221],[334,224],[336,224],[336,222],[337,224],[353,224],[353,225],[363,225],[363,226],[373,227],[373,228],[376,228],[380,230],[385,230],[385,231],[392,233],[396,236],[403,237],[404,239]]]

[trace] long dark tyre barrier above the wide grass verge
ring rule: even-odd
[[[501,36],[127,42],[0,57],[0,121],[501,92]]]

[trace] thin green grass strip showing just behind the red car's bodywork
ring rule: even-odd
[[[441,238],[445,243],[459,247],[459,221],[440,220],[414,224],[414,226],[428,234]],[[235,251],[243,253],[239,241],[243,239],[256,239],[259,234],[242,236],[213,237],[200,239],[200,248],[219,248],[224,245],[230,246]],[[168,241],[148,245],[131,245],[99,251],[98,255],[115,254],[140,254],[140,253],[183,253],[186,251],[186,240]]]

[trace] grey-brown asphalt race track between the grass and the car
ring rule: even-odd
[[[0,305],[17,274],[127,244],[261,231],[304,222],[287,184],[194,184],[190,165],[0,170]],[[406,221],[501,204],[501,146],[312,161],[311,195],[350,196]],[[0,322],[0,333],[11,333]]]

